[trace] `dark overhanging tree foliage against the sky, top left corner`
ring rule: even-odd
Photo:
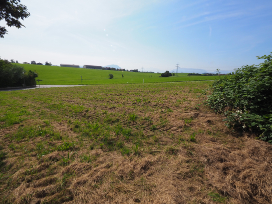
[[[18,29],[25,27],[19,20],[28,18],[30,13],[27,12],[26,6],[19,4],[20,2],[20,0],[1,0],[0,21],[5,20],[9,27],[15,26]],[[4,38],[7,33],[6,27],[0,26],[0,37]]]

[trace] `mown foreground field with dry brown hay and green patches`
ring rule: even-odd
[[[210,83],[0,92],[0,203],[270,203],[271,145],[226,128]]]

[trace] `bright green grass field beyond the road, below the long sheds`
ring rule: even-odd
[[[214,80],[216,76],[187,76],[186,73],[179,73],[175,77],[159,77],[160,74],[141,72],[121,72],[109,70],[93,70],[71,67],[56,67],[44,65],[20,64],[27,71],[36,70],[39,74],[37,79],[43,80],[43,85],[79,85],[81,77],[83,84],[126,84],[126,83],[155,83],[155,82],[178,82],[178,81],[201,81]],[[109,79],[109,74],[114,78]],[[124,78],[122,78],[122,74]],[[152,76],[152,77],[151,77]]]

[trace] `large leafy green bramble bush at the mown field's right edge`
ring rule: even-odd
[[[272,52],[258,57],[259,65],[246,65],[211,85],[207,104],[224,113],[228,127],[252,131],[272,143]]]

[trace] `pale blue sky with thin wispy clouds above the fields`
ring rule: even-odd
[[[22,0],[1,59],[165,72],[259,64],[272,52],[271,0]],[[143,69],[142,69],[143,68]]]

